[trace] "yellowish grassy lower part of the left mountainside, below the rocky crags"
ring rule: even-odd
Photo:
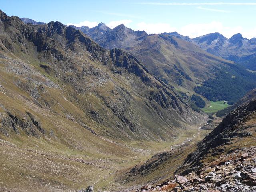
[[[84,116],[76,102],[70,102],[72,97],[66,91],[45,87],[45,93],[41,93],[44,102],[52,102],[52,110],[58,112],[55,114],[48,108],[38,107],[27,92],[9,80],[23,80],[22,78],[12,77],[4,70],[0,72],[0,76],[3,86],[0,92],[1,105],[8,107],[17,116],[30,111],[40,118],[47,135],[36,139],[22,131],[20,135],[9,132],[10,137],[0,134],[2,190],[70,191],[90,184],[94,184],[96,189],[121,187],[112,174],[122,168],[134,166],[174,143],[153,140],[142,143],[121,140],[114,142],[112,139],[95,136],[72,119],[66,118],[66,111],[76,116]],[[86,96],[92,103],[93,99],[90,97]],[[4,115],[5,110],[0,109],[1,115]],[[88,121],[88,125],[96,133],[100,133],[98,125],[86,119],[85,122]],[[53,136],[49,135],[50,132],[53,132]],[[107,136],[110,132],[106,130],[100,134]],[[182,137],[182,132],[180,134]]]

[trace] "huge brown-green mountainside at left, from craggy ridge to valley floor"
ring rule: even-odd
[[[117,188],[117,170],[205,118],[134,56],[60,22],[0,11],[0,68],[0,190]]]

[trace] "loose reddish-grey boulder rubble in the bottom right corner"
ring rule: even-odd
[[[173,180],[158,185],[143,186],[136,190],[136,192],[147,191],[255,192],[256,147],[236,150],[218,158],[206,169],[200,169],[186,176],[175,175]]]

